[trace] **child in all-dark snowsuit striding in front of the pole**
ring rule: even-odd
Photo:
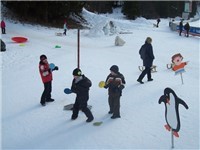
[[[89,100],[89,89],[92,82],[85,76],[79,68],[73,70],[74,79],[72,81],[71,91],[76,93],[76,100],[73,106],[72,120],[78,117],[79,110],[82,110],[88,118],[86,122],[91,122],[94,117],[87,107]]]

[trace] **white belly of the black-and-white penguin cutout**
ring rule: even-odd
[[[178,121],[174,103],[167,104],[167,122],[172,129],[177,128]]]

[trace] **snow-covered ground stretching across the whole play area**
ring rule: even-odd
[[[84,10],[91,27],[112,20],[118,31],[132,34],[105,36],[91,35],[90,30],[80,32],[81,70],[91,79],[89,104],[93,106],[93,122],[86,123],[80,112],[71,121],[71,111],[63,106],[73,103],[75,95],[66,95],[63,89],[71,86],[72,71],[77,67],[77,30],[68,30],[67,36],[55,36],[62,29],[20,24],[5,20],[7,34],[1,35],[7,51],[1,56],[1,147],[6,149],[170,149],[171,134],[164,128],[164,103],[158,100],[166,87],[172,88],[189,106],[179,106],[181,129],[175,138],[175,149],[199,149],[199,38],[179,36],[169,28],[169,20],[138,18],[124,20],[121,14],[95,15]],[[120,16],[119,16],[120,15]],[[101,24],[102,23],[102,24]],[[197,24],[199,21],[197,22]],[[91,30],[93,30],[91,29]],[[114,45],[119,35],[126,41],[122,47]],[[14,43],[14,36],[25,36],[25,45]],[[156,73],[153,82],[139,84],[138,66],[142,64],[138,51],[146,37],[152,37]],[[61,48],[55,48],[56,45]],[[189,61],[181,77],[175,76],[166,64],[172,55],[181,53]],[[46,54],[49,62],[59,66],[53,72],[52,98],[55,102],[40,105],[43,84],[38,71],[39,56]],[[118,65],[125,76],[126,86],[121,97],[121,118],[112,120],[108,114],[107,90],[98,83],[105,80],[111,65]]]

